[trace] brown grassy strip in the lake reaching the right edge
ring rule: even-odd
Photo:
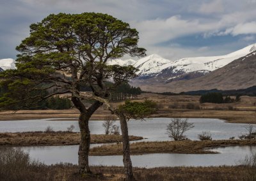
[[[131,144],[131,154],[147,153],[215,153],[205,150],[220,146],[256,145],[256,139],[214,141],[156,141]],[[122,155],[122,145],[104,145],[90,150],[91,155]]]

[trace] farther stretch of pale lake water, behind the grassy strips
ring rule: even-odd
[[[188,122],[194,123],[195,127],[188,130],[185,135],[192,140],[197,139],[197,135],[202,131],[208,131],[212,139],[229,139],[237,138],[239,135],[246,133],[244,126],[246,124],[227,123],[219,119],[208,118],[189,118]],[[91,134],[104,134],[102,127],[103,121],[90,121]],[[129,135],[143,136],[142,141],[167,141],[170,140],[166,134],[166,125],[170,123],[170,118],[149,118],[145,121],[131,120],[128,122]],[[74,125],[74,131],[79,131],[77,121],[52,121],[52,119],[42,120],[19,120],[0,122],[0,132],[25,132],[25,131],[44,131],[47,126],[53,130],[67,130],[67,127]],[[119,122],[116,121],[116,125]]]

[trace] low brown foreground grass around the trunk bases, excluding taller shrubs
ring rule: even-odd
[[[15,177],[12,180],[124,180],[124,168],[93,166],[94,175],[78,175],[77,166],[72,164],[56,164],[52,166],[35,165],[26,169],[23,173],[15,171],[10,175],[2,175],[3,181]],[[140,181],[156,180],[232,180],[245,181],[255,179],[255,168],[248,166],[219,166],[219,167],[173,167],[173,168],[134,168],[134,177]],[[4,177],[5,176],[5,177]],[[18,178],[17,178],[18,177]],[[6,179],[5,179],[6,178]]]

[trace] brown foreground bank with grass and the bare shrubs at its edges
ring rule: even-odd
[[[240,166],[134,168],[134,177],[140,181],[151,180],[255,180],[256,155],[243,159]],[[252,162],[254,161],[254,162]],[[92,166],[92,175],[79,175],[73,164],[47,166],[33,161],[29,153],[14,148],[0,148],[0,178],[7,180],[124,180],[124,168]]]

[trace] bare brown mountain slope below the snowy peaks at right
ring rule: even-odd
[[[168,83],[154,81],[132,81],[133,86],[140,86],[142,90],[179,93],[197,90],[237,90],[256,85],[256,51],[236,59],[209,74],[195,79],[170,81]],[[150,83],[150,84],[149,84]]]

